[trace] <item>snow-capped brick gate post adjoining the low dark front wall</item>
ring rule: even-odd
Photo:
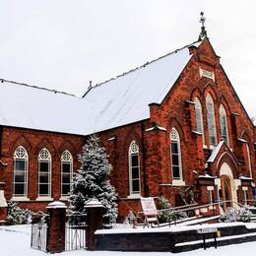
[[[88,250],[93,251],[96,247],[96,229],[103,226],[103,205],[95,198],[87,202],[85,206],[87,212],[87,235],[86,244]]]

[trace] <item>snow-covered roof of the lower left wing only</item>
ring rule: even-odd
[[[82,98],[14,83],[0,83],[0,124],[84,134]]]

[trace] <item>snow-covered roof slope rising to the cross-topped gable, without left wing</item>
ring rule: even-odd
[[[186,46],[92,88],[85,101],[94,129],[102,131],[150,118],[149,104],[161,103],[191,57]]]

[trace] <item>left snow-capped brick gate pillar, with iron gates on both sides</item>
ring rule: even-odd
[[[50,253],[65,251],[66,205],[59,201],[50,203],[47,207],[49,215],[47,229],[47,251]]]

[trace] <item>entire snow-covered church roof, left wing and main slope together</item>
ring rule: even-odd
[[[0,125],[89,135],[150,118],[191,59],[187,45],[93,87],[83,97],[0,83]]]

